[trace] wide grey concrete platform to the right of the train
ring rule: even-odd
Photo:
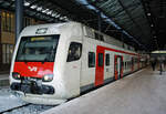
[[[166,114],[166,72],[144,69],[42,114]]]

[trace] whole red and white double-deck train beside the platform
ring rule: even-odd
[[[54,105],[143,66],[132,46],[84,24],[32,25],[18,39],[10,87],[27,102]]]

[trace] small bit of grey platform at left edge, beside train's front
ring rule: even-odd
[[[9,86],[9,73],[0,74],[0,87]]]

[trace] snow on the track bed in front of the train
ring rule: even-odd
[[[0,89],[0,113],[9,108],[18,107],[23,104],[23,102],[18,94],[11,91],[9,87]],[[35,105],[31,104],[25,107],[21,107],[4,114],[40,114],[41,112],[51,108],[52,106],[46,105]]]

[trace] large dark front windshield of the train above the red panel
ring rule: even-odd
[[[15,61],[53,62],[60,35],[21,38]]]

